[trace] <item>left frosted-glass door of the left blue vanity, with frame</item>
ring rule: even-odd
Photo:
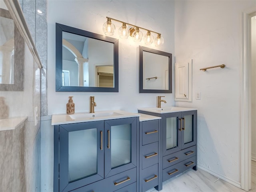
[[[104,121],[60,126],[60,191],[104,178]]]

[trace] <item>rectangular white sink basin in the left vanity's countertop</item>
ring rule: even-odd
[[[124,115],[117,112],[76,113],[69,115],[72,120]]]

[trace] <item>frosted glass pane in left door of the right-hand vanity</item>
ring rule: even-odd
[[[166,118],[166,150],[178,146],[177,117]]]

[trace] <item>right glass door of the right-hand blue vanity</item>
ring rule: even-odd
[[[182,112],[182,149],[196,145],[196,123],[197,114],[196,111]]]

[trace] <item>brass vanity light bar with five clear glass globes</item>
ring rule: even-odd
[[[129,24],[120,20],[116,20],[110,17],[106,17],[106,18],[107,18],[107,21],[102,26],[104,34],[106,35],[114,34],[116,27],[111,21],[111,20],[114,20],[122,23],[122,26],[118,29],[118,35],[120,36],[120,38],[128,38],[128,36],[130,35],[133,38],[134,42],[140,42],[143,38],[145,44],[152,44],[153,42],[155,46],[161,46],[162,44],[164,44],[164,38],[161,36],[160,33],[157,33],[142,27],[138,27],[136,25]],[[132,27],[128,30],[127,25]],[[143,36],[141,29],[147,31],[146,35]],[[154,38],[154,36],[151,33],[157,34],[157,37]]]

